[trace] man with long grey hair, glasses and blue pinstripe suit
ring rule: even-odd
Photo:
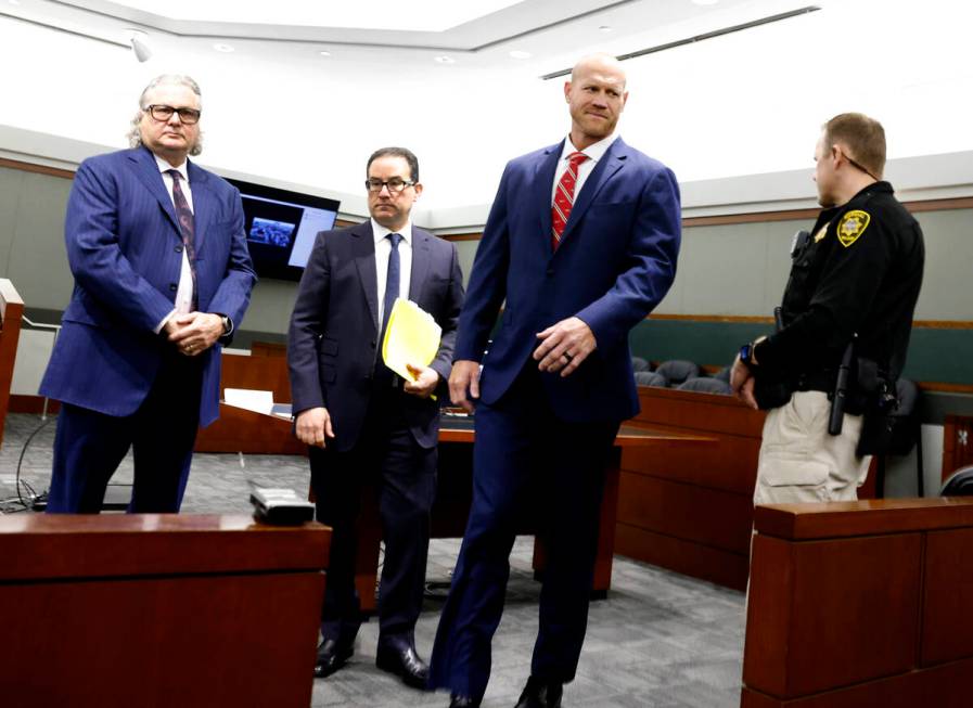
[[[75,278],[43,396],[62,401],[48,511],[98,513],[131,448],[130,512],[178,512],[200,424],[218,415],[220,344],[256,280],[240,193],[188,155],[200,88],[159,76],[132,149],[86,159],[65,219]]]

